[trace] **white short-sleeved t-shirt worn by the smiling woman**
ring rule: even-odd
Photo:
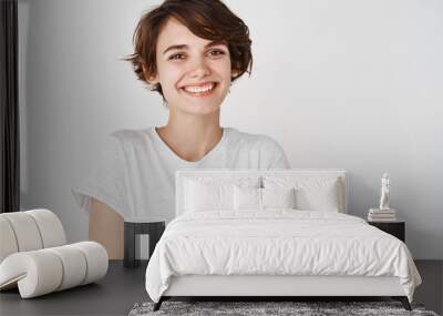
[[[203,159],[177,156],[155,128],[111,134],[103,155],[83,183],[72,190],[80,207],[94,197],[125,221],[171,222],[175,217],[175,172],[183,169],[289,169],[281,146],[266,135],[224,128],[220,141]]]

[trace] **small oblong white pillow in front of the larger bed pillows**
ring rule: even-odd
[[[234,187],[234,210],[295,208],[295,188]]]

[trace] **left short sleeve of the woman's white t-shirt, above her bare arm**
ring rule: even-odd
[[[123,217],[128,215],[125,182],[125,156],[121,141],[115,133],[107,136],[105,144],[93,162],[83,181],[72,187],[72,194],[76,204],[91,212],[92,197],[105,203],[120,213]]]

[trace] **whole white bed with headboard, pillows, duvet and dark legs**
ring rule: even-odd
[[[390,296],[421,277],[403,242],[348,214],[344,170],[186,170],[146,268],[171,297]]]

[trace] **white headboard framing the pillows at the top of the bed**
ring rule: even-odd
[[[346,170],[338,169],[319,169],[319,170],[179,170],[175,173],[175,214],[176,216],[184,213],[185,205],[185,181],[193,177],[220,177],[220,179],[243,179],[257,177],[261,183],[261,179],[266,176],[290,176],[290,177],[336,177],[338,184],[338,202],[340,205],[339,212],[348,213],[348,192],[349,179]]]

